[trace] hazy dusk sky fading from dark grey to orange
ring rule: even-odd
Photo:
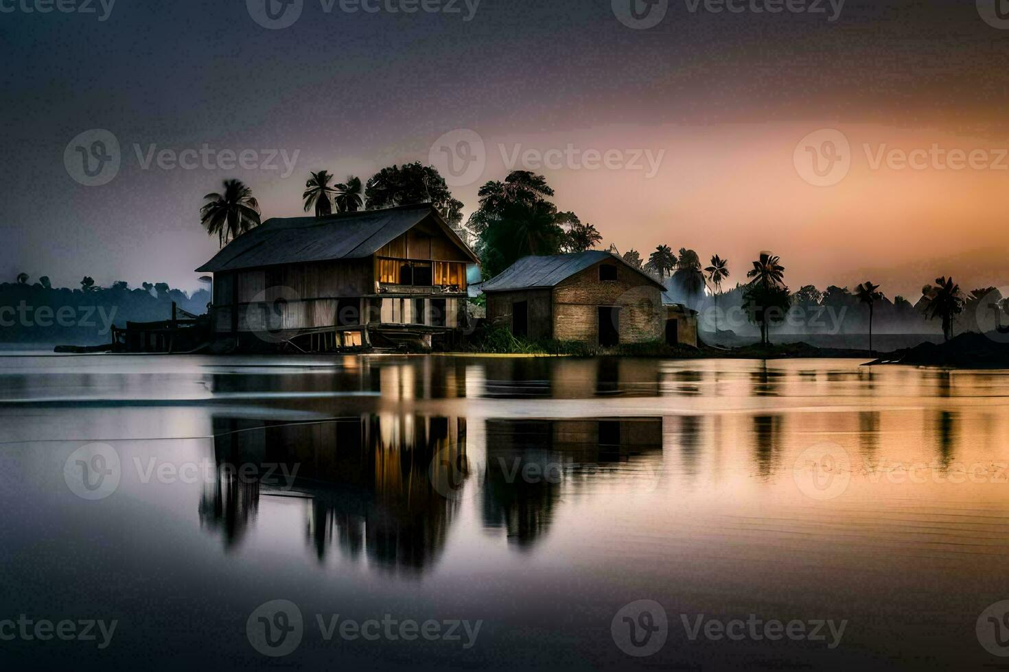
[[[301,13],[267,29],[266,1],[0,0],[3,280],[195,288],[223,179],[295,216],[310,170],[366,179],[470,129],[467,216],[526,167],[605,244],[717,253],[730,284],[762,249],[793,289],[1009,283],[1009,18],[974,0],[670,0],[647,29],[631,0],[268,0]],[[93,129],[120,165],[89,186]]]

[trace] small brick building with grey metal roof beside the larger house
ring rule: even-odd
[[[484,282],[487,321],[516,337],[539,341],[580,341],[608,348],[660,341],[695,346],[691,331],[680,328],[682,312],[663,304],[665,289],[657,279],[623,258],[598,250],[523,257]],[[668,327],[669,319],[676,325]]]

